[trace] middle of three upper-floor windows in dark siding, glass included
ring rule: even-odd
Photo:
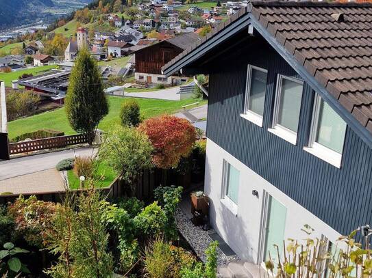
[[[273,126],[270,129],[275,135],[295,145],[301,111],[303,81],[279,75],[273,113]]]

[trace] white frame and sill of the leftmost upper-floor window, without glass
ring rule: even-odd
[[[240,114],[240,117],[244,117],[246,120],[249,120],[253,124],[256,124],[262,128],[263,123],[263,115],[258,115],[258,113],[254,113],[253,111],[248,109],[249,105],[249,98],[251,95],[251,83],[252,83],[252,70],[259,70],[260,72],[264,72],[267,75],[267,70],[264,68],[259,68],[257,66],[252,66],[248,64],[247,66],[247,82],[245,84],[245,100],[244,100],[244,111]],[[267,84],[266,84],[267,86]],[[266,99],[266,90],[264,100]]]

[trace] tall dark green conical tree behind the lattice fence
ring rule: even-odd
[[[108,114],[108,99],[97,62],[86,49],[79,51],[71,72],[65,109],[73,130],[85,133],[92,144],[99,122]]]

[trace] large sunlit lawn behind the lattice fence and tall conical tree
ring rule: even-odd
[[[162,115],[164,113],[175,113],[182,109],[182,106],[196,102],[195,99],[188,100],[152,100],[145,98],[136,98],[140,105],[140,111],[142,117],[149,118],[156,115]],[[112,126],[119,124],[119,112],[121,104],[125,101],[125,98],[119,98],[116,96],[109,96],[110,112],[106,117],[103,118],[99,124],[101,130],[110,130]],[[202,102],[203,104],[206,101]],[[8,123],[9,137],[14,138],[17,135],[23,133],[29,133],[42,128],[49,128],[53,130],[63,131],[66,135],[75,134],[75,131],[69,125],[66,119],[66,113],[64,108],[55,109],[32,117],[25,117],[23,119],[15,120]]]

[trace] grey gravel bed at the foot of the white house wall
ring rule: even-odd
[[[206,262],[205,251],[212,242],[208,234],[213,230],[203,231],[200,227],[194,226],[186,214],[180,208],[176,210],[177,227],[179,232],[187,240],[201,261]],[[220,249],[217,249],[219,266],[227,266],[230,262],[240,261],[237,255],[227,257]]]

